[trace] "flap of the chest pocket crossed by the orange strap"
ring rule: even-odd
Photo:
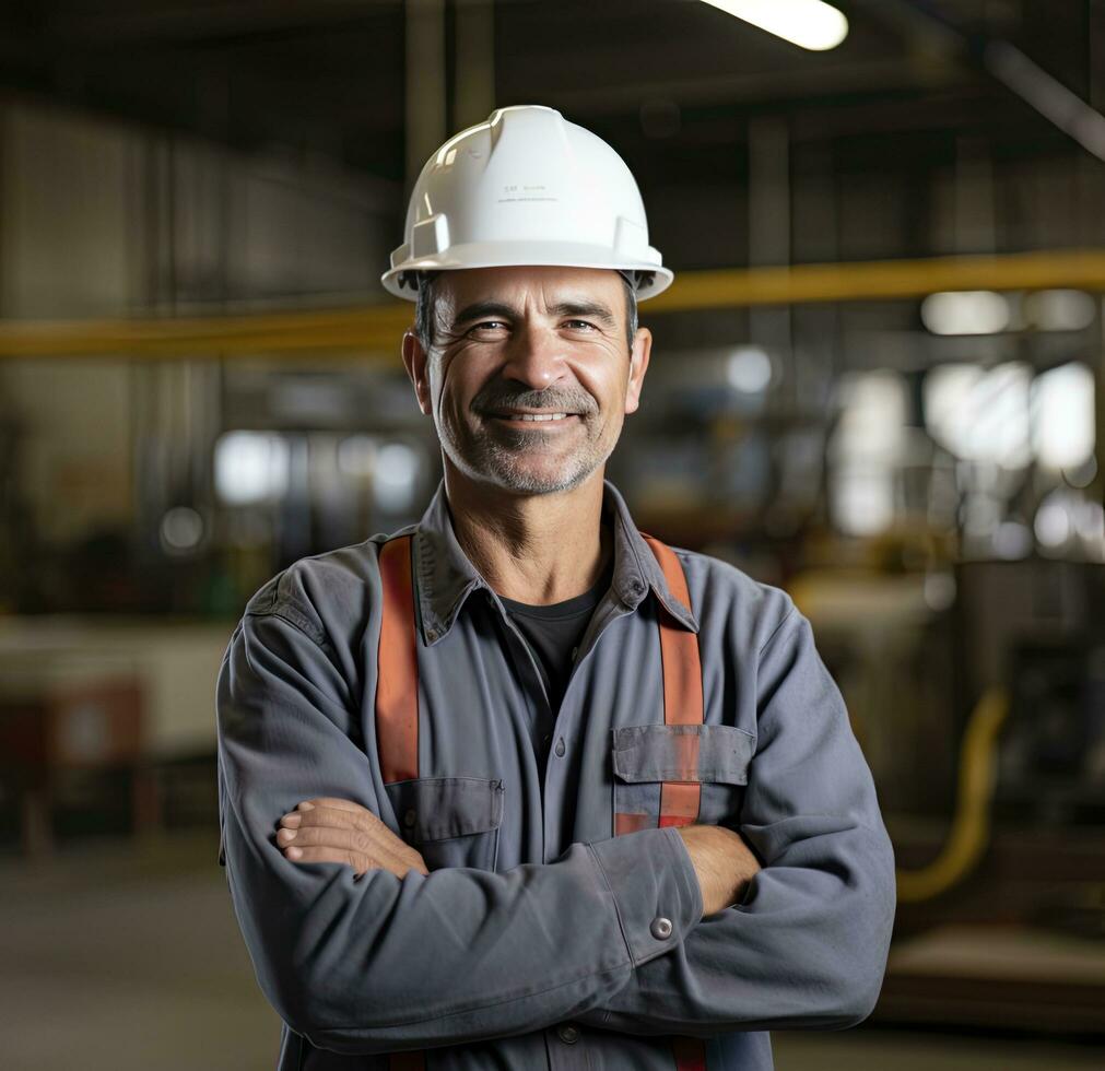
[[[756,737],[733,725],[628,725],[613,729],[624,781],[748,783]]]

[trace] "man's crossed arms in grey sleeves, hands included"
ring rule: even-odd
[[[428,873],[377,817],[335,662],[290,617],[246,615],[219,679],[220,809],[231,895],[270,1002],[314,1044],[347,1053],[565,1019],[708,1037],[865,1018],[894,911],[870,773],[804,620],[779,628],[758,671],[740,816],[755,855],[729,830],[666,827],[503,873]],[[298,827],[281,819],[293,813]],[[732,851],[704,861],[717,846],[697,837],[727,837]],[[657,905],[673,923],[664,938],[650,928]]]

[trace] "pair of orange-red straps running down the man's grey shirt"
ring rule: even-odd
[[[644,535],[642,533],[642,535]],[[667,586],[687,607],[691,597],[675,553],[645,535],[663,569]],[[419,776],[418,765],[418,638],[414,629],[414,592],[411,581],[411,536],[390,539],[380,552],[383,620],[377,652],[376,741],[385,784]],[[701,725],[703,722],[702,663],[698,638],[669,620],[660,609],[660,657],[664,680],[664,724]],[[678,768],[685,780],[664,781],[660,796],[660,826],[688,826],[698,817],[698,737],[677,737]],[[615,836],[643,828],[643,816],[615,816]],[[706,1071],[706,1050],[697,1038],[673,1037],[676,1071]],[[392,1052],[391,1071],[423,1071],[422,1052]]]

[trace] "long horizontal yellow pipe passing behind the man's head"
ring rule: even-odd
[[[1060,250],[992,256],[798,264],[681,272],[645,315],[920,297],[946,290],[1105,292],[1105,252]],[[201,317],[0,321],[0,357],[210,358],[239,354],[398,360],[407,303]]]

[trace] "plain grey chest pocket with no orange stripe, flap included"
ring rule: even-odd
[[[403,840],[430,870],[494,870],[503,825],[502,780],[484,777],[414,777],[383,786]]]

